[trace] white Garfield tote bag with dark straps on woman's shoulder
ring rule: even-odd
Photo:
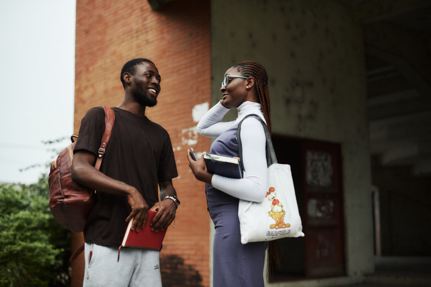
[[[291,167],[277,163],[268,128],[258,115],[254,116],[261,121],[265,130],[268,186],[266,197],[261,202],[239,200],[238,217],[241,243],[304,236]],[[238,125],[237,140],[242,161],[241,123],[242,121]]]

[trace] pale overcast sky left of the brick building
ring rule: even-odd
[[[0,183],[37,182],[70,143],[75,19],[76,0],[0,0]]]

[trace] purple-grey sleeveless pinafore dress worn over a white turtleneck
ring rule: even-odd
[[[212,143],[210,152],[239,157],[237,128],[238,125],[234,125],[221,134]],[[263,287],[265,250],[268,242],[241,244],[238,198],[206,184],[206,199],[215,226],[213,286]]]

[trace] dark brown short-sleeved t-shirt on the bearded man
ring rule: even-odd
[[[147,117],[113,108],[115,122],[100,171],[135,187],[150,208],[159,201],[158,183],[178,176],[168,133]],[[97,156],[105,128],[101,107],[90,109],[81,122],[74,152],[87,150]],[[127,197],[104,192],[90,212],[84,228],[85,242],[118,247],[131,212]]]

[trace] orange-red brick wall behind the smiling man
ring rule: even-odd
[[[120,71],[125,62],[148,58],[159,69],[161,93],[157,106],[147,109],[147,116],[171,137],[179,174],[173,183],[182,203],[176,227],[169,227],[160,256],[183,262],[194,276],[190,280],[197,282],[200,276],[203,286],[209,286],[210,219],[204,185],[188,168],[190,146],[182,139],[187,137],[183,131],[196,126],[193,106],[210,102],[209,14],[209,1],[200,0],[173,1],[157,12],[142,0],[77,0],[75,65],[75,133],[89,108],[121,102]],[[195,150],[209,149],[209,139],[197,139]],[[162,273],[170,277],[178,274],[163,268]],[[178,278],[178,285],[185,280]]]

